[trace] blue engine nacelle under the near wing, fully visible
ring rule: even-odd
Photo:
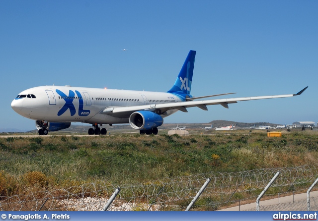
[[[138,130],[149,130],[159,127],[163,123],[163,118],[152,111],[140,110],[133,112],[129,117],[130,126]]]

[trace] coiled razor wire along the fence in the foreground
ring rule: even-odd
[[[272,187],[299,185],[308,188],[318,177],[315,166],[297,166],[289,168],[264,168],[240,172],[210,172],[175,178],[164,178],[153,182],[120,185],[121,191],[109,210],[139,211],[178,210],[180,201],[192,199],[207,178],[211,179],[201,197],[208,197],[213,204],[229,202],[233,193],[246,194],[243,199],[257,196],[277,171],[280,176]],[[100,211],[118,185],[109,182],[86,183],[69,188],[48,189],[28,192],[11,197],[0,196],[2,211]],[[164,188],[163,188],[164,187]],[[161,191],[161,192],[160,192]],[[231,202],[231,201],[230,201]]]

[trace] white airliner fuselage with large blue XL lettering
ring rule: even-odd
[[[22,91],[11,107],[20,115],[49,122],[98,124],[129,123],[131,113],[104,114],[111,107],[176,103],[182,100],[170,93],[128,91],[70,86],[40,86]],[[28,96],[28,95],[34,95]],[[167,110],[162,117],[177,110]]]

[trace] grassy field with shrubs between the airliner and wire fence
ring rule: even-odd
[[[0,195],[101,180],[122,185],[211,171],[318,165],[318,131],[284,131],[274,138],[248,130],[190,134],[0,136]]]

